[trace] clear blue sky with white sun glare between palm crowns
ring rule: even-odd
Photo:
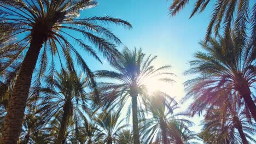
[[[157,55],[155,65],[172,65],[171,72],[176,74],[176,83],[163,87],[162,91],[167,92],[177,100],[184,96],[183,82],[191,76],[184,76],[184,70],[189,69],[188,62],[192,59],[193,53],[201,50],[198,42],[206,33],[208,21],[210,20],[211,5],[207,10],[189,20],[189,14],[193,9],[190,3],[177,16],[168,16],[168,5],[172,1],[166,0],[101,0],[97,7],[87,9],[80,16],[112,16],[132,24],[132,29],[125,29],[119,26],[109,27],[116,34],[124,45],[118,47],[122,50],[124,46],[142,47],[147,55]],[[86,58],[92,70],[110,69],[108,63],[96,62],[91,57]],[[154,87],[154,86],[150,86]],[[182,110],[187,109],[188,104],[180,105]],[[191,119],[195,123],[194,131],[199,132],[201,127],[197,125],[201,118]]]

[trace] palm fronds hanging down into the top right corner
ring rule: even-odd
[[[181,9],[189,3],[189,0],[175,0],[171,4],[169,10],[170,15],[175,16]],[[193,17],[196,13],[202,13],[210,0],[197,0],[194,4],[194,9],[189,18]],[[247,25],[251,25],[252,43],[255,46],[255,29],[256,29],[256,4],[250,8],[250,1],[236,1],[236,0],[223,0],[214,1],[214,8],[211,15],[211,21],[207,28],[205,40],[208,41],[211,37],[212,31],[215,35],[219,34],[220,29],[224,29],[224,33],[228,36],[231,28],[237,34],[237,39],[244,41],[246,37]],[[233,22],[234,21],[234,22]],[[242,42],[243,43],[243,42]]]

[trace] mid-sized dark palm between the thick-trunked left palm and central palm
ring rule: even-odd
[[[45,107],[47,109],[42,110],[42,115],[61,117],[56,143],[62,143],[65,140],[65,131],[71,119],[74,122],[82,121],[81,118],[84,117],[84,112],[88,113],[88,115],[92,113],[89,109],[89,94],[85,92],[86,88],[92,87],[89,81],[88,76],[80,75],[78,77],[74,73],[62,70],[61,73],[57,73],[53,82],[54,92],[51,89],[42,88],[44,94],[53,93],[51,98],[43,96],[42,109]]]

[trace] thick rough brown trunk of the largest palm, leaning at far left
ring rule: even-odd
[[[22,62],[19,76],[16,80],[13,94],[8,103],[7,115],[5,116],[3,137],[0,143],[17,143],[24,119],[28,92],[30,90],[32,74],[36,67],[40,49],[44,43],[44,38],[32,38],[24,61]]]

